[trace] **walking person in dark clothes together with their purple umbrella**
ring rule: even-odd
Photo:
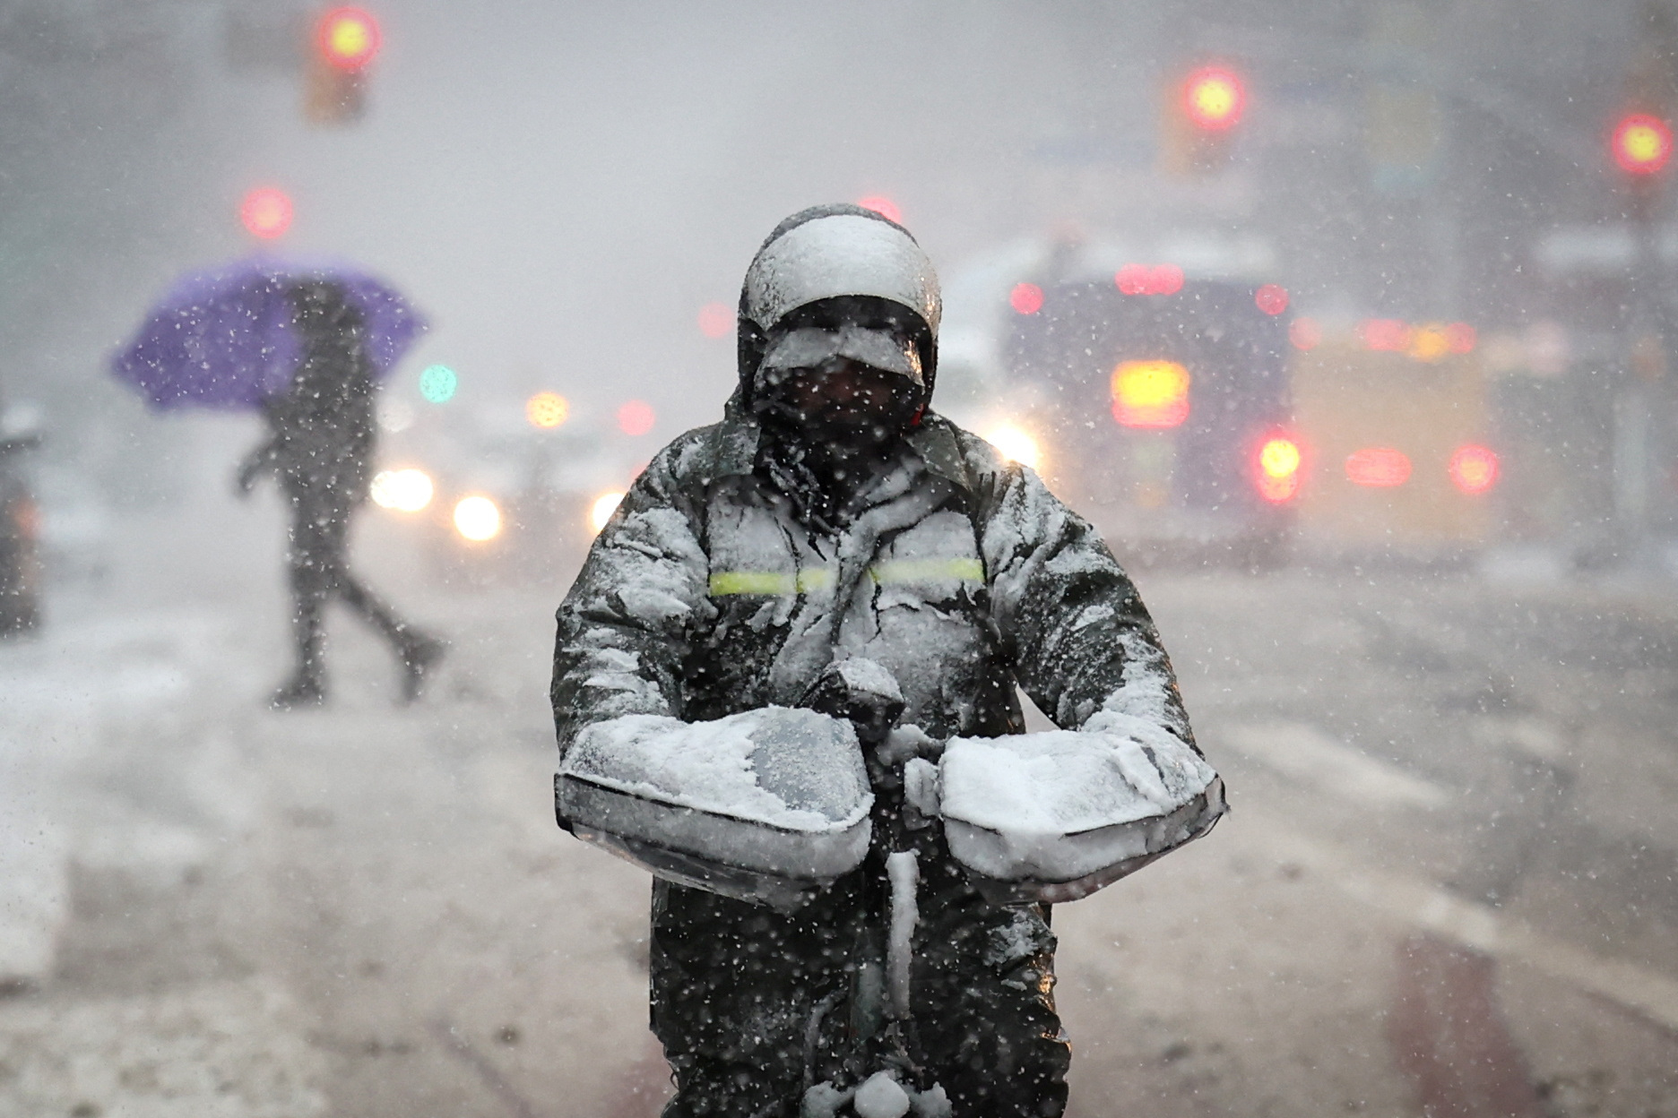
[[[248,494],[272,473],[290,503],[287,573],[295,669],[275,707],[326,701],[326,605],[337,598],[401,664],[420,697],[443,642],[404,622],[349,570],[349,523],[366,501],[376,448],[376,379],[420,334],[383,283],[347,270],[255,261],[188,277],[114,362],[154,407],[255,407],[268,437],[240,464]]]

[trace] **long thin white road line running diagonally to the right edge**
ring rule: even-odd
[[[1549,939],[1520,920],[1421,878],[1361,865],[1262,810],[1242,810],[1228,825],[1378,912],[1488,955],[1525,964],[1678,1031],[1678,981],[1673,977]]]

